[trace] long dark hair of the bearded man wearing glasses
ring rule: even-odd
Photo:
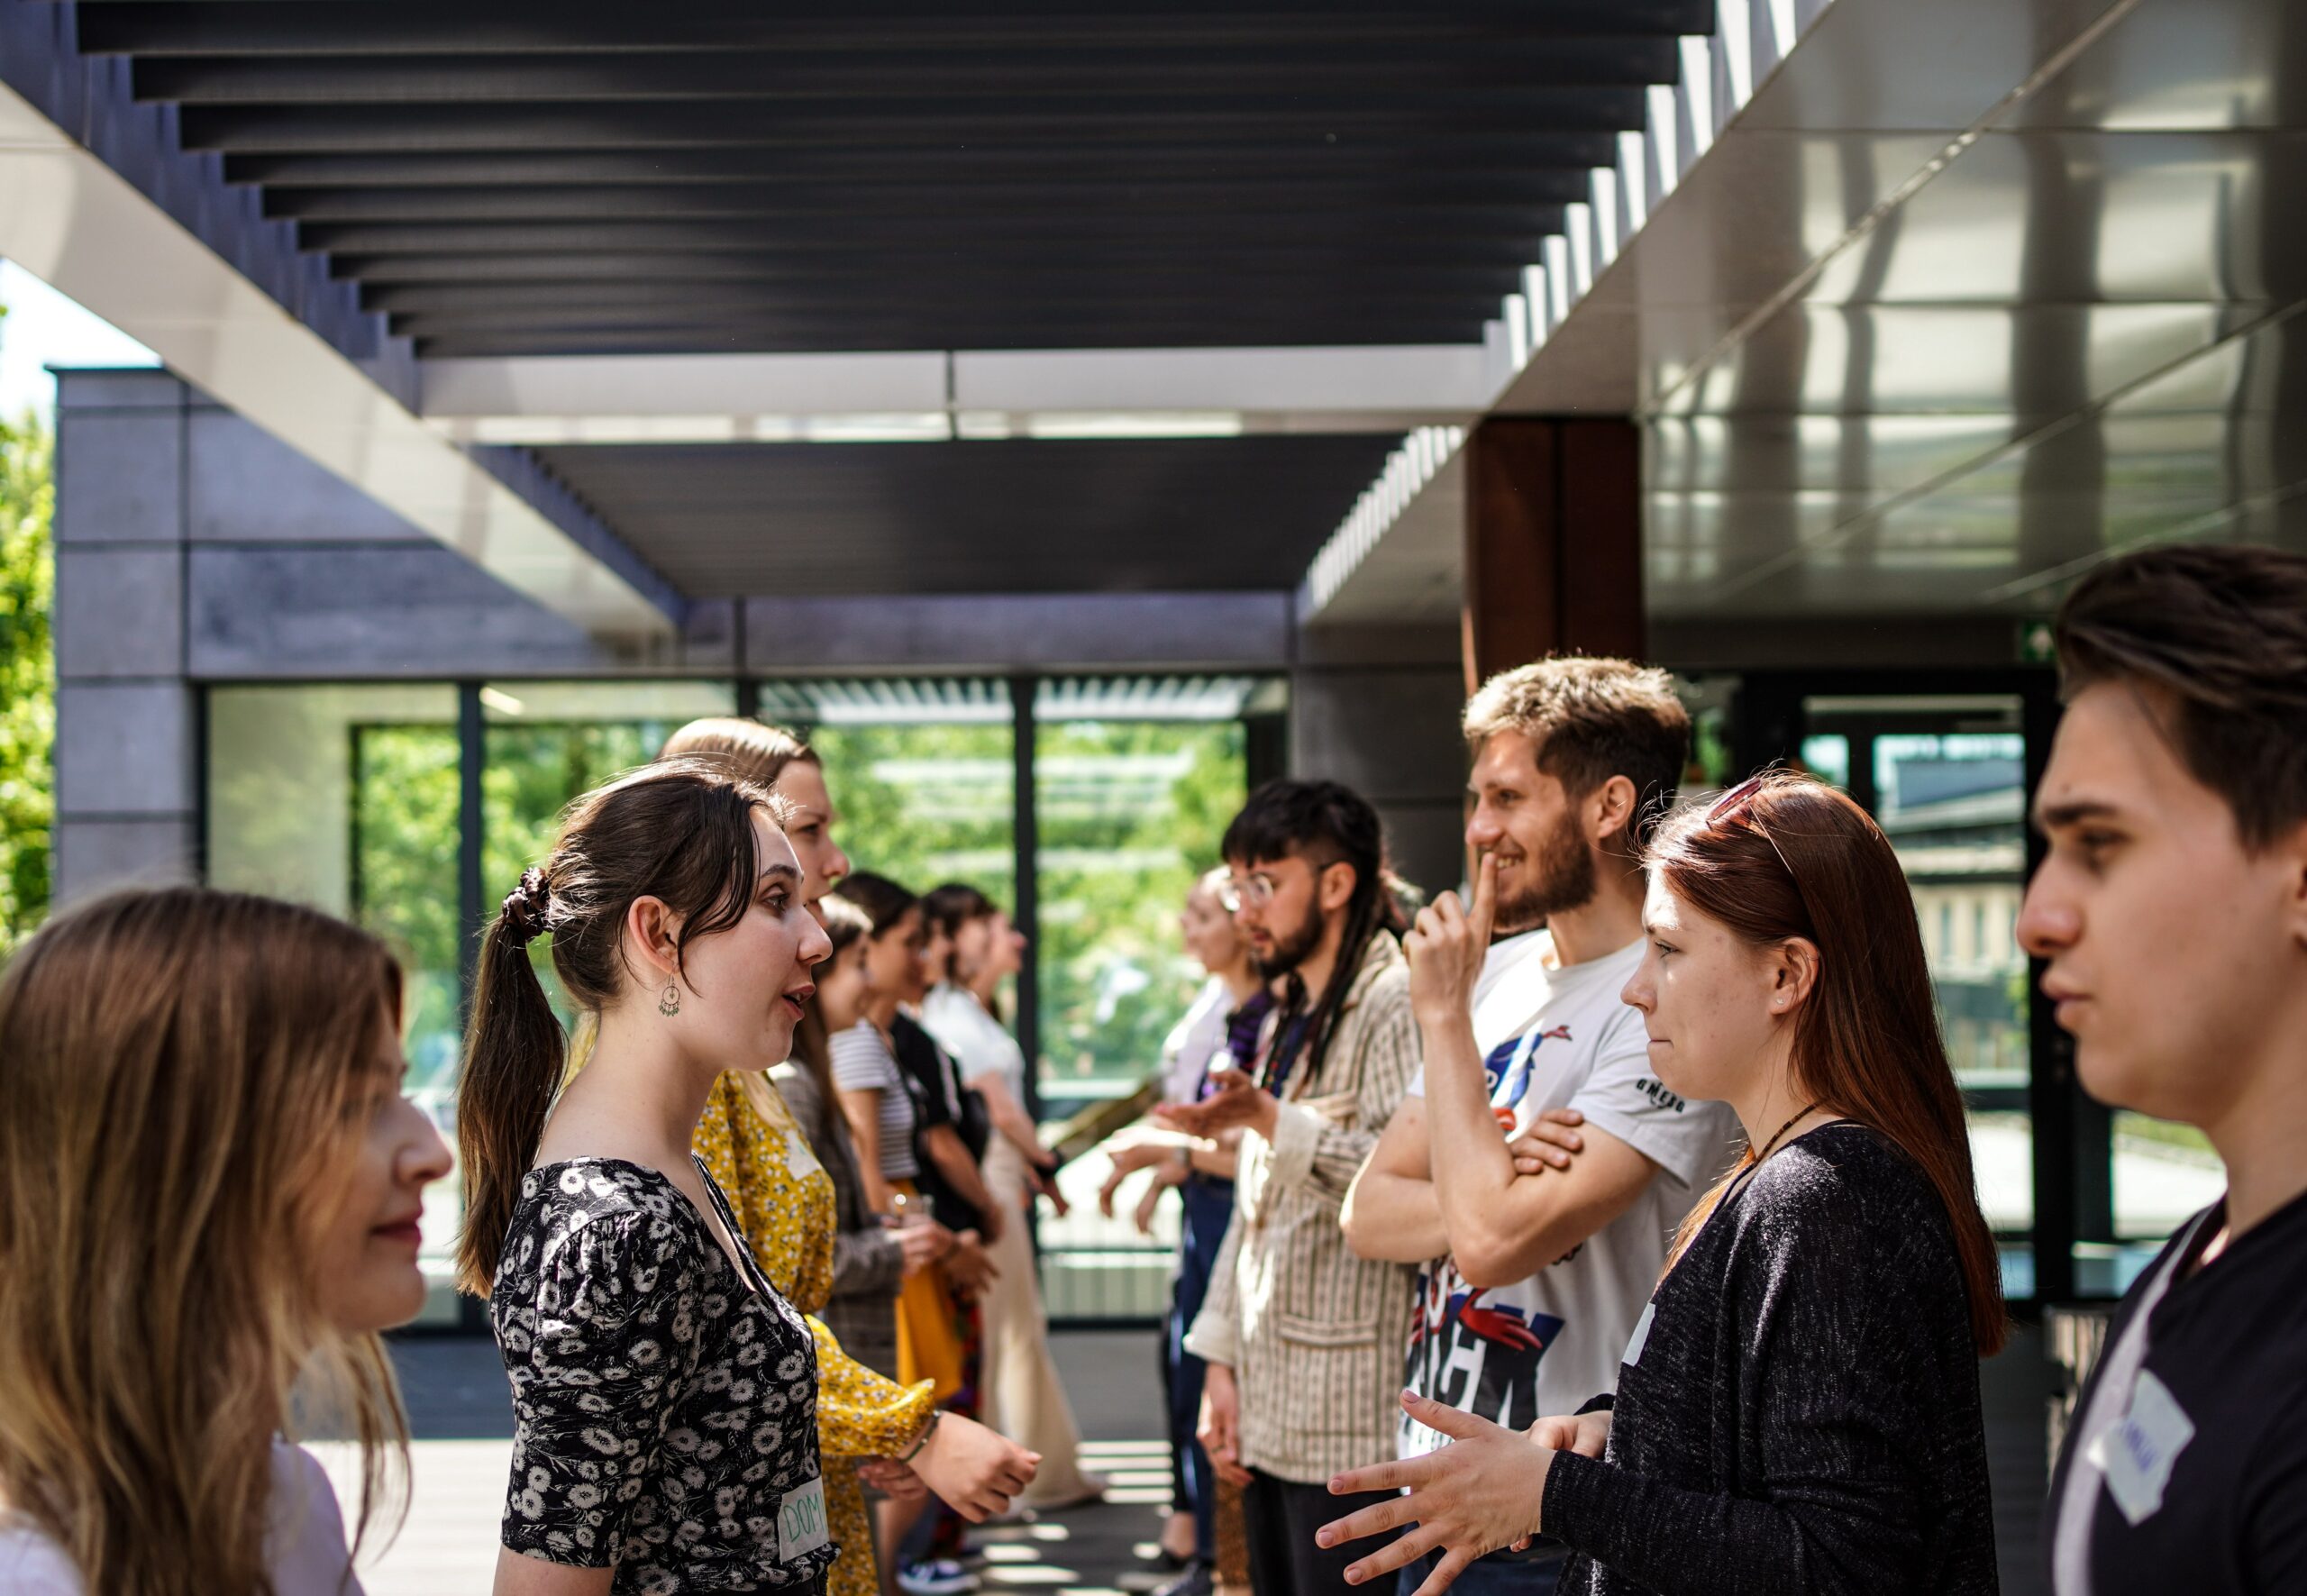
[[[1393,895],[1387,890],[1387,840],[1370,800],[1345,782],[1276,780],[1250,793],[1241,814],[1225,828],[1223,856],[1230,865],[1267,865],[1283,858],[1306,858],[1315,869],[1354,867],[1354,895],[1345,902],[1345,936],[1338,939],[1338,966],[1313,1001],[1303,1029],[1306,1068],[1320,1070],[1329,1040],[1345,1012],[1345,994],[1354,989],[1363,953],[1373,936],[1398,925]],[[1287,1019],[1283,1031],[1287,1036]],[[1276,1056],[1267,1068],[1287,1068],[1292,1059]]]

